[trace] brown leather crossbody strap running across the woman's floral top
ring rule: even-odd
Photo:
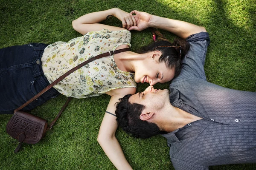
[[[81,64],[77,65],[76,67],[72,68],[70,71],[67,71],[67,73],[63,74],[61,77],[59,77],[58,79],[56,79],[54,82],[52,82],[50,85],[48,85],[46,88],[44,88],[44,90],[42,90],[41,92],[39,92],[37,95],[35,95],[34,97],[32,97],[31,99],[29,99],[29,101],[27,101],[26,103],[24,103],[23,105],[21,105],[19,108],[15,109],[14,114],[19,111],[20,109],[26,107],[29,103],[33,102],[35,99],[37,99],[39,96],[41,96],[42,94],[44,94],[46,91],[48,91],[50,88],[52,88],[54,85],[56,85],[58,82],[60,82],[62,79],[64,79],[65,77],[67,77],[69,74],[73,73],[74,71],[76,71],[77,69],[81,68],[82,66],[86,65],[89,62],[92,62],[95,59],[99,59],[102,57],[106,57],[109,55],[114,55],[114,54],[118,54],[121,52],[125,52],[125,51],[130,51],[130,48],[123,48],[123,49],[119,49],[116,51],[108,51],[106,53],[97,55],[95,57],[92,57],[90,59],[88,59],[85,62],[82,62]],[[70,98],[71,99],[71,98]],[[70,101],[69,99],[69,101]],[[61,109],[62,110],[62,109]],[[57,116],[58,117],[58,116]],[[58,119],[58,118],[57,118]]]

